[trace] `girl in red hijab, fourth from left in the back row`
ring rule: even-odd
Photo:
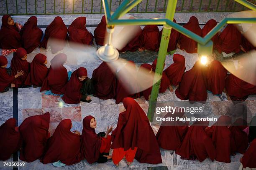
[[[86,17],[78,17],[75,19],[68,28],[69,41],[77,42],[84,45],[92,43],[92,33],[86,28]]]

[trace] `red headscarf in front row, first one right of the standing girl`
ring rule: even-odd
[[[182,117],[183,113],[171,112],[167,113],[164,117]],[[181,143],[185,134],[187,133],[188,125],[182,121],[162,121],[161,126],[156,134],[156,139],[159,146],[166,150],[176,150]]]

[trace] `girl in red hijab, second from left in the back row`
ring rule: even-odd
[[[28,21],[20,30],[20,35],[22,46],[28,54],[40,45],[43,31],[37,27],[37,18],[35,16],[28,18]]]

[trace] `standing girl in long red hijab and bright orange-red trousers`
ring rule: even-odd
[[[161,153],[148,117],[131,97],[123,99],[125,111],[118,117],[118,125],[112,132],[112,160],[119,165],[125,156],[127,164],[133,159],[139,163],[162,163]]]

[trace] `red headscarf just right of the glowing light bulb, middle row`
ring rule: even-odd
[[[207,67],[207,90],[217,95],[223,92],[227,70],[218,60],[213,60]]]

